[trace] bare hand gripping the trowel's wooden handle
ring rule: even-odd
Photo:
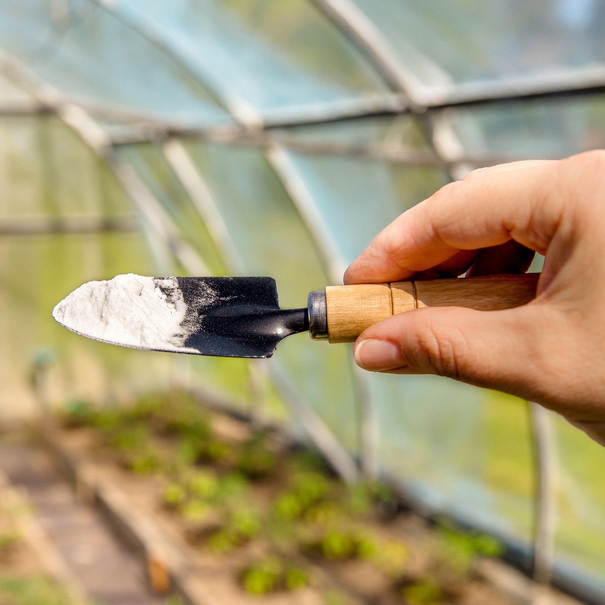
[[[604,250],[605,151],[471,172],[385,227],[345,284],[522,273],[539,252],[537,298],[394,315],[359,336],[355,360],[530,399],[605,445]]]

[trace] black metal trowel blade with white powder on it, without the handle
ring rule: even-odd
[[[53,318],[122,347],[226,357],[270,357],[285,336],[309,329],[306,309],[280,309],[270,277],[117,275],[74,290]]]

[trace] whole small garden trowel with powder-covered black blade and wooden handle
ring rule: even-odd
[[[118,275],[74,290],[53,310],[59,324],[123,347],[270,357],[281,339],[309,332],[315,340],[352,342],[367,327],[419,307],[499,310],[535,297],[539,273],[329,286],[307,306],[280,309],[270,277]]]

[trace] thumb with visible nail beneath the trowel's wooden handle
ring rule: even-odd
[[[534,383],[548,359],[547,324],[535,303],[501,311],[416,309],[365,330],[355,361],[365,370],[439,374],[525,396],[541,390]]]

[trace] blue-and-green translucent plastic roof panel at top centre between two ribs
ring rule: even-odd
[[[256,7],[215,0],[108,4],[170,48],[243,122],[275,116],[284,107],[304,111],[306,105],[386,91],[361,53],[307,2],[257,2]],[[278,20],[283,27],[275,27]],[[321,41],[315,52],[310,36]]]

